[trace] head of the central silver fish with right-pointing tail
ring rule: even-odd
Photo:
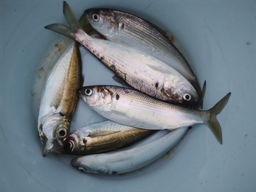
[[[107,111],[112,105],[112,92],[104,86],[82,87],[77,94],[96,111]]]

